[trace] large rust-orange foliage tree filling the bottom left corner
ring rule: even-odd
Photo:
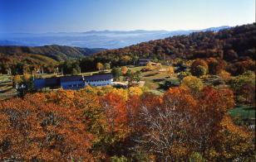
[[[29,95],[2,102],[0,112],[0,160],[91,160],[93,136],[76,108]]]

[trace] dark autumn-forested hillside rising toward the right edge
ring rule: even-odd
[[[123,55],[165,58],[219,57],[227,61],[255,59],[256,23],[236,26],[219,32],[194,32],[189,36],[173,36],[163,40],[143,42],[117,50],[106,50],[94,55],[102,60],[120,62]],[[132,60],[131,59],[131,60]]]

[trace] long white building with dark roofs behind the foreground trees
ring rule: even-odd
[[[77,90],[86,85],[105,86],[112,85],[112,74],[93,74],[89,76],[75,75],[52,77],[48,79],[34,79],[34,88],[63,88]]]

